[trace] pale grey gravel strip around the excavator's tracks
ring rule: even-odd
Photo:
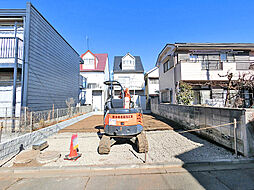
[[[131,144],[116,144],[108,155],[97,152],[99,137],[97,133],[78,133],[79,152],[77,161],[64,160],[69,154],[72,133],[58,133],[47,139],[46,149],[59,151],[61,158],[44,166],[103,165],[103,164],[138,164],[143,163],[145,154],[139,154]],[[173,130],[146,132],[149,152],[147,163],[190,162],[216,159],[234,159],[232,152],[212,144],[193,134],[178,134]],[[46,151],[45,150],[45,151]]]

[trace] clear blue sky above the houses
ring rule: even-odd
[[[25,8],[25,0],[0,0],[1,8]],[[77,50],[140,55],[154,67],[166,43],[254,42],[254,1],[249,0],[32,0]]]

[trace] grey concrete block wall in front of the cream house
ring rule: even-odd
[[[232,109],[176,104],[158,104],[152,100],[151,112],[179,123],[185,129],[199,129],[237,120],[237,150],[245,156],[254,155],[254,109]],[[234,149],[234,125],[197,131],[199,135]]]

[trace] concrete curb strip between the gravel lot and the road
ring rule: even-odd
[[[254,163],[254,159],[65,167],[11,167],[0,168],[0,176],[39,178],[47,176],[163,174],[254,168],[254,165],[250,163]]]

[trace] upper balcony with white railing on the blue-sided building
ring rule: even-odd
[[[0,37],[0,68],[18,68],[23,62],[23,40],[18,37]]]

